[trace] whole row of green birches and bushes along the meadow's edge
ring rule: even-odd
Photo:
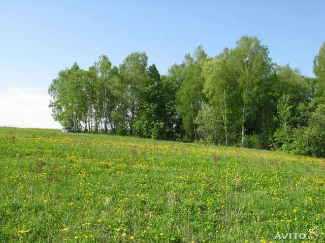
[[[56,121],[78,132],[277,149],[325,156],[325,42],[316,77],[277,65],[256,36],[208,57],[202,46],[160,75],[144,52],[59,71],[48,93]]]

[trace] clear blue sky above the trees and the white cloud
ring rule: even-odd
[[[215,56],[243,35],[257,35],[274,62],[313,76],[325,41],[323,1],[175,2],[0,0],[0,93],[46,92],[59,70],[75,61],[87,69],[101,54],[119,65],[145,51],[166,74],[199,44]]]

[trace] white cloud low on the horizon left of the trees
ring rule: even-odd
[[[0,90],[0,126],[60,128],[48,107],[50,96],[41,88]]]

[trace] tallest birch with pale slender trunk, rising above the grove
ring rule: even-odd
[[[236,48],[230,52],[230,57],[237,87],[240,90],[238,105],[241,106],[241,146],[244,147],[247,128],[251,133],[260,132],[256,129],[258,124],[254,124],[257,117],[262,118],[259,121],[260,126],[270,120],[267,110],[263,110],[264,107],[260,107],[259,104],[267,105],[265,99],[271,100],[270,83],[273,80],[274,63],[269,57],[269,48],[261,45],[256,36],[243,36],[236,44]],[[261,100],[263,102],[260,102]],[[254,111],[261,109],[261,114],[256,116],[257,112]],[[252,128],[255,128],[255,131]]]

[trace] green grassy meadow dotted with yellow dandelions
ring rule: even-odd
[[[0,242],[325,241],[321,158],[0,128],[0,181]]]

